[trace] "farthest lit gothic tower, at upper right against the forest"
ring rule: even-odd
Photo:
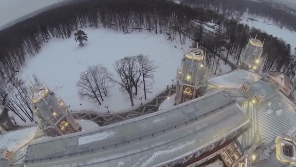
[[[258,72],[261,65],[261,55],[263,52],[263,43],[260,40],[255,38],[250,38],[247,46],[240,54],[240,63],[239,66],[242,69],[252,70]]]

